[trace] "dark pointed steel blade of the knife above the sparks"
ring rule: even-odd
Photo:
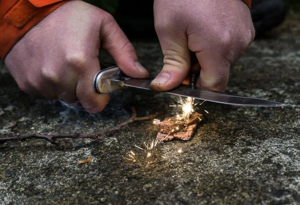
[[[152,79],[137,79],[137,78],[122,78],[120,80],[111,80],[112,83],[120,84],[124,83],[125,86],[141,88],[152,90],[150,88],[150,83]],[[223,103],[223,104],[230,104],[230,105],[242,105],[242,106],[256,106],[256,107],[282,107],[288,104],[263,100],[259,98],[249,98],[249,97],[242,97],[238,95],[231,95],[223,92],[218,92],[210,89],[205,89],[199,86],[195,86],[191,88],[190,85],[180,85],[175,89],[169,90],[168,94],[172,95],[179,95],[182,97],[191,97],[205,101]]]

